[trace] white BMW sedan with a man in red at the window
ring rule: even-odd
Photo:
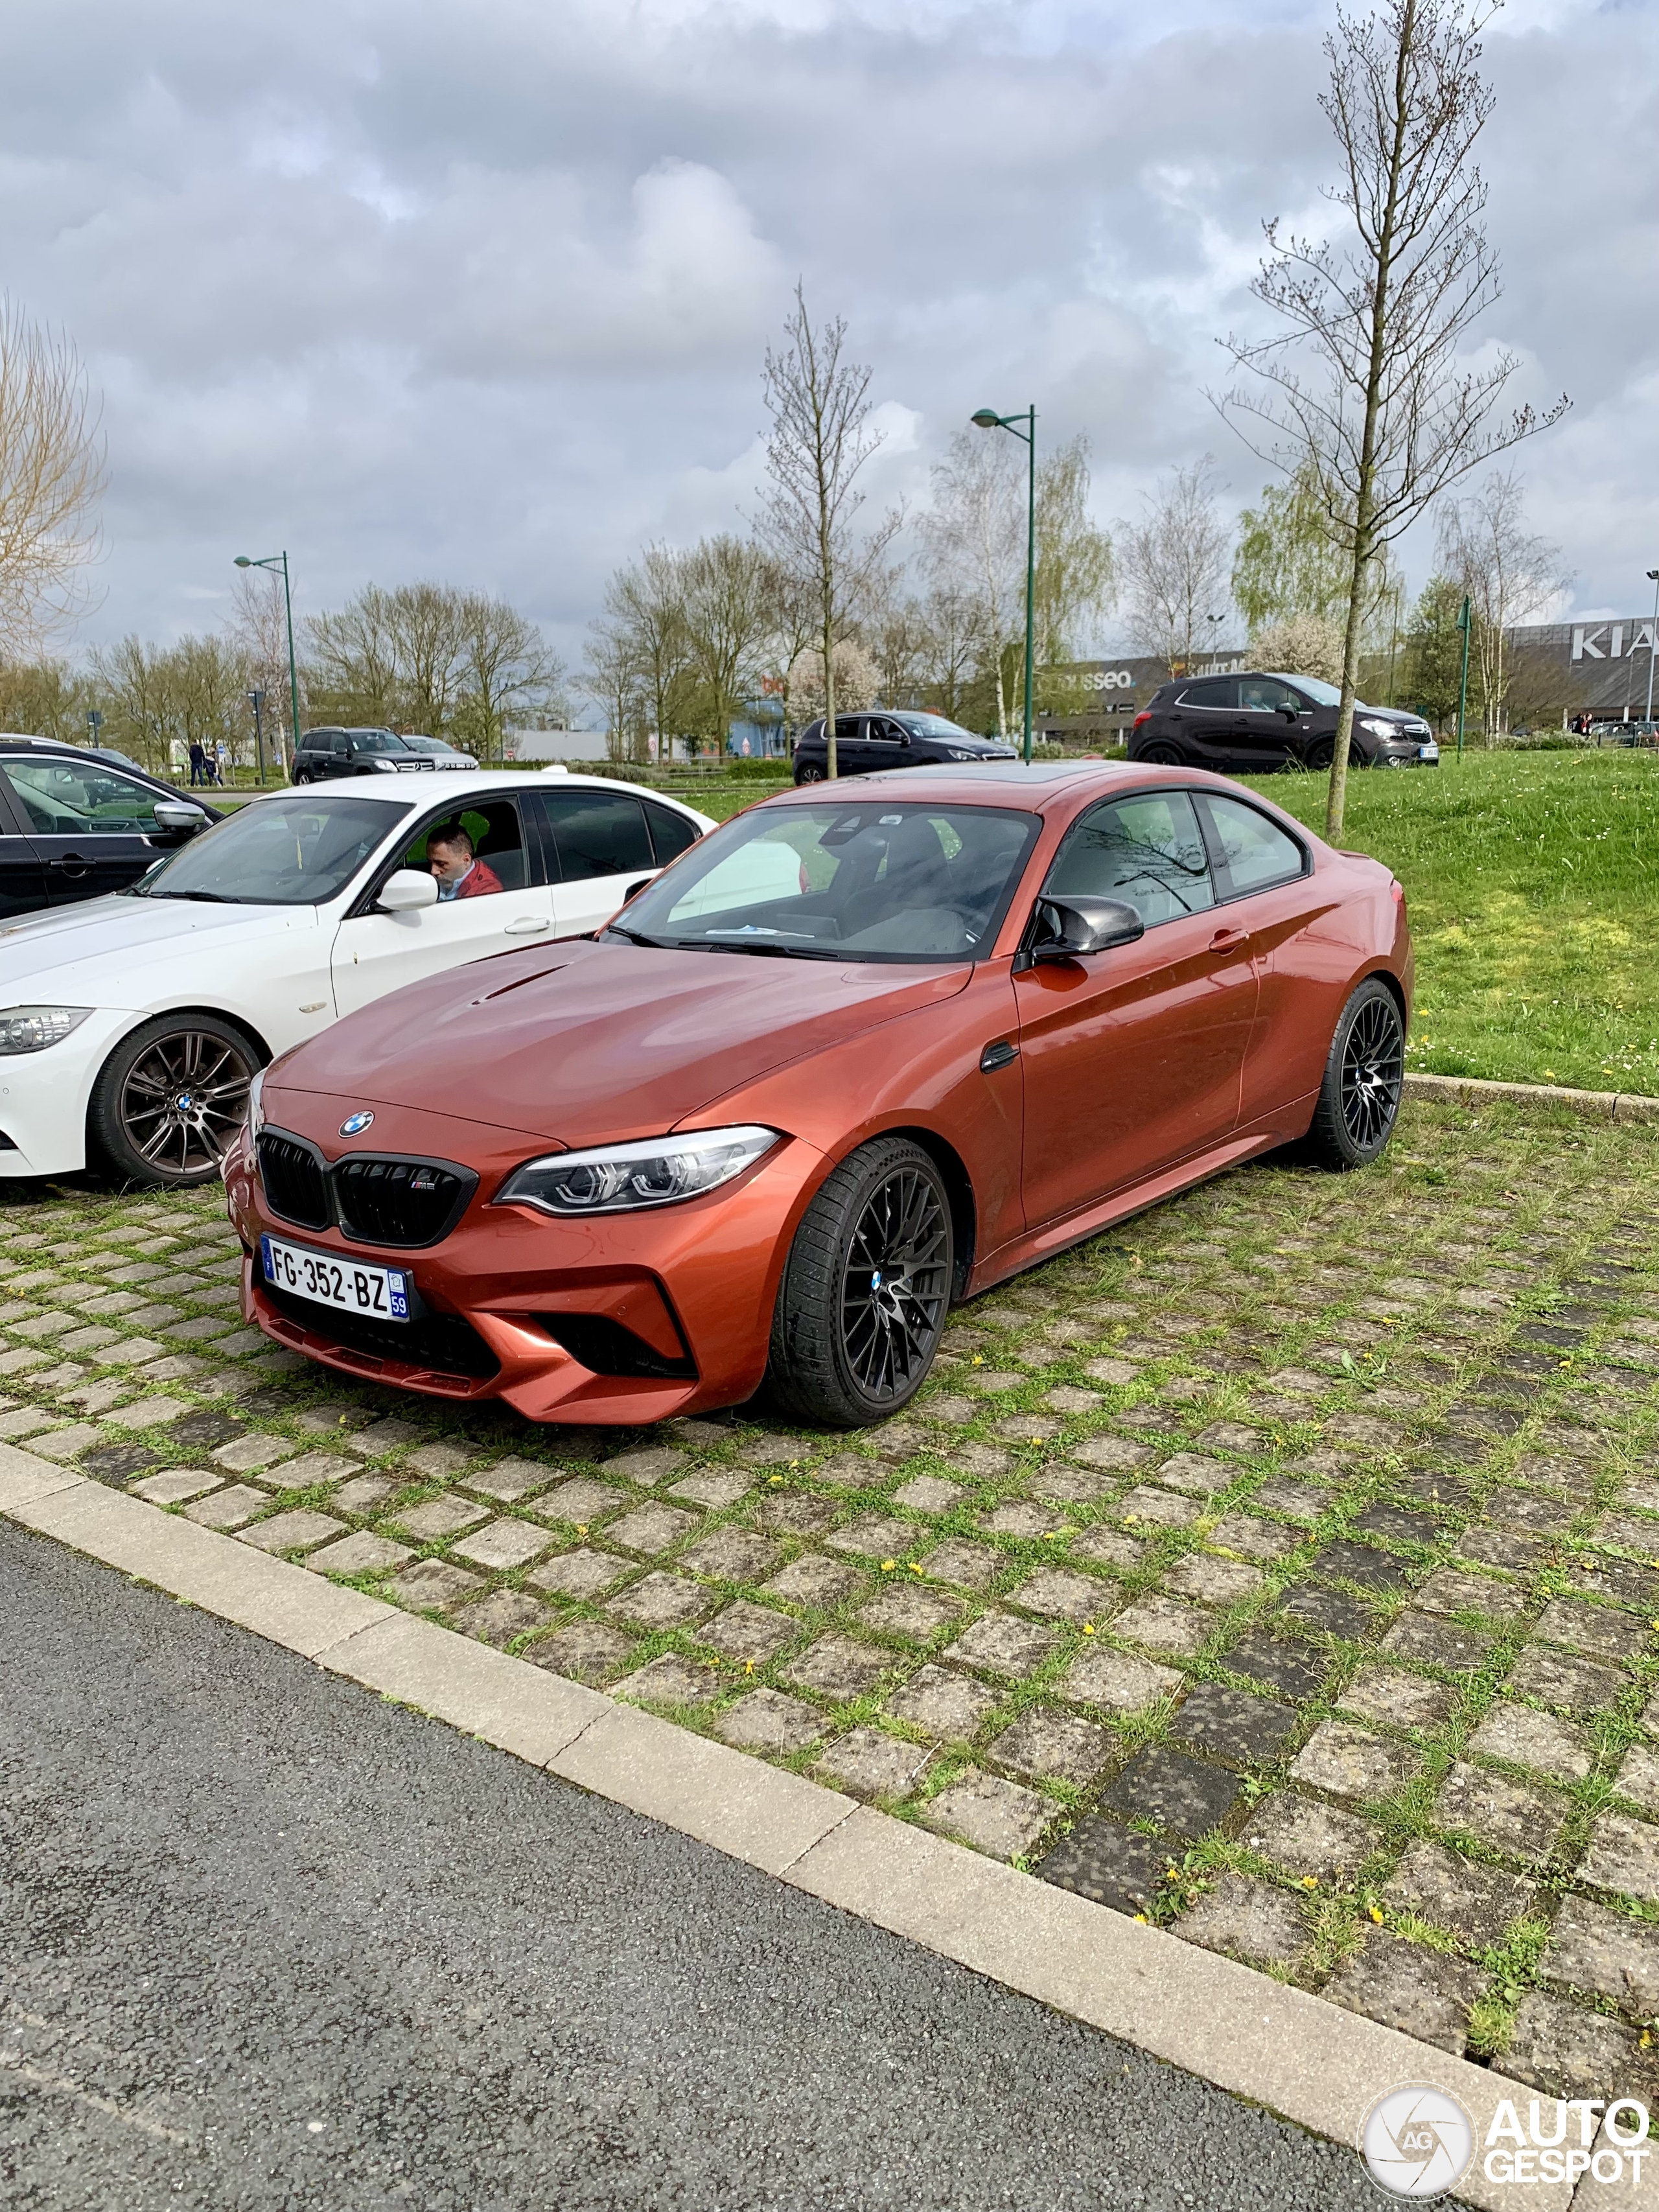
[[[257,799],[131,889],[0,929],[0,1175],[208,1181],[276,1053],[420,975],[597,929],[712,827],[568,774]]]

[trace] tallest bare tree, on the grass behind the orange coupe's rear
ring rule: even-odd
[[[1458,347],[1498,296],[1486,243],[1486,186],[1473,146],[1493,108],[1480,75],[1482,0],[1385,0],[1338,11],[1325,40],[1321,108],[1343,175],[1329,190],[1352,234],[1343,246],[1270,221],[1272,259],[1252,290],[1283,323],[1272,338],[1223,345],[1261,383],[1219,405],[1245,442],[1287,476],[1310,467],[1332,533],[1349,557],[1343,699],[1325,834],[1340,836],[1354,728],[1367,571],[1458,478],[1555,422],[1520,407],[1491,422],[1515,356],[1460,365]],[[1261,442],[1254,442],[1261,438]]]

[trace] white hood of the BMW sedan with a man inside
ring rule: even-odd
[[[0,927],[0,998],[64,1006],[139,1006],[155,987],[190,962],[226,956],[243,938],[272,929],[316,929],[316,907],[212,907],[192,898],[86,898],[46,907]],[[186,947],[190,951],[186,953]]]

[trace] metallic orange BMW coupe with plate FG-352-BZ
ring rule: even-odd
[[[768,1385],[885,1420],[945,1316],[1208,1175],[1378,1157],[1405,896],[1219,776],[872,776],[728,821],[593,940],[434,975],[254,1084],[243,1312],[533,1420]]]

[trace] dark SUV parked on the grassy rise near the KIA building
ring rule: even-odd
[[[1318,677],[1177,677],[1135,717],[1128,757],[1232,776],[1329,768],[1340,697]],[[1438,768],[1440,745],[1422,714],[1356,699],[1349,761],[1356,768]]]

